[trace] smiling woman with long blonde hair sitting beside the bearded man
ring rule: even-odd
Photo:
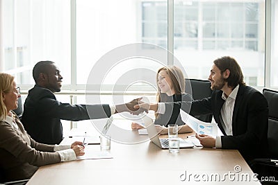
[[[179,101],[192,101],[193,98],[190,94],[185,93],[186,82],[183,73],[179,67],[168,66],[161,67],[158,69],[156,74],[158,92],[156,94],[156,101],[158,103],[163,102],[179,102]],[[181,121],[181,116],[179,116],[179,109],[172,111],[172,117],[167,123],[163,122],[159,116],[156,114],[156,130],[159,134],[167,134],[167,125],[177,124],[179,126],[179,133],[192,132],[188,125],[183,125]],[[138,123],[131,123],[131,128],[133,130],[141,129],[142,126]]]

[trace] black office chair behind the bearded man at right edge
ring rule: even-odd
[[[254,159],[250,167],[261,177],[275,177],[275,181],[263,181],[262,184],[278,184],[278,91],[263,89],[268,101],[268,148],[270,158]]]

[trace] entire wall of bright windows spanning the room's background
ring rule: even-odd
[[[278,86],[273,71],[277,69],[276,1],[271,1],[271,61],[265,61],[263,0],[174,0],[173,10],[167,9],[165,0],[1,1],[1,70],[15,74],[21,85],[33,84],[31,70],[35,62],[54,60],[62,71],[64,89],[76,89],[76,85],[85,85],[90,70],[105,53],[124,44],[144,42],[173,48],[170,52],[179,59],[189,78],[206,79],[215,58],[231,55],[243,68],[247,84],[263,87],[265,62],[271,62],[268,84]],[[168,33],[169,25],[173,25],[173,33]],[[171,43],[169,39],[173,46],[167,45]],[[114,73],[125,73],[130,66],[138,67],[138,63],[142,66],[144,62],[130,60],[130,65],[123,63]],[[157,68],[151,63],[146,67]],[[107,85],[112,83],[113,80],[106,80]]]

